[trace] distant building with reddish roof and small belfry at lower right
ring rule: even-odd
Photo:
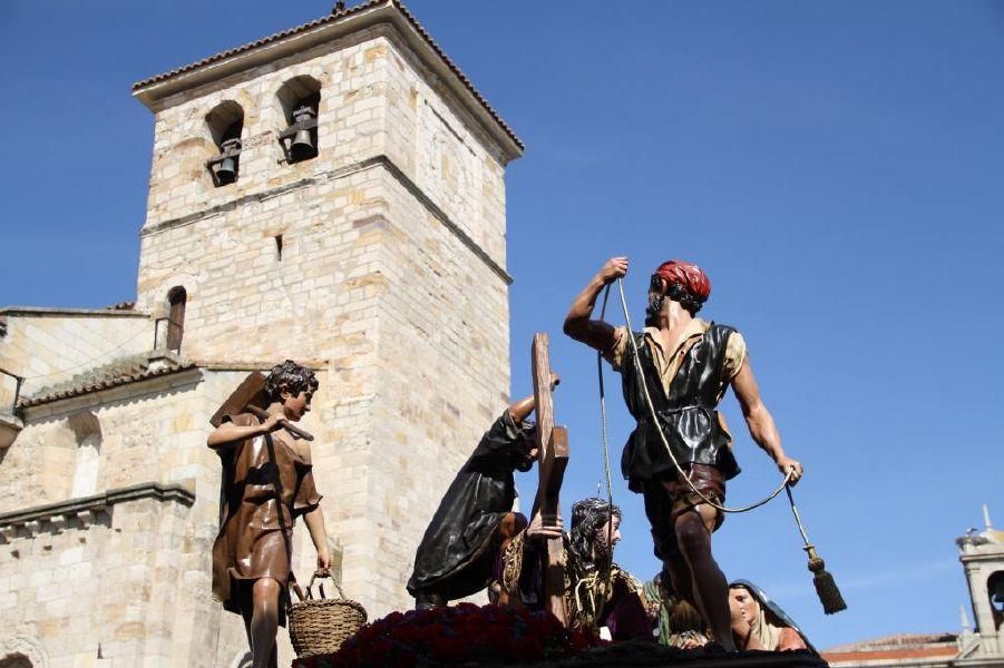
[[[966,571],[976,631],[962,611],[962,632],[903,633],[834,647],[822,656],[834,668],[909,666],[962,668],[1004,666],[1004,531],[991,525],[984,507],[984,531],[969,531],[955,542]]]

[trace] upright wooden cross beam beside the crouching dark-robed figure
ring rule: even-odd
[[[545,527],[557,525],[561,517],[558,494],[568,465],[568,430],[554,424],[554,399],[550,394],[550,361],[547,334],[534,334],[532,348],[534,400],[537,413],[537,498],[534,512],[540,513]],[[533,515],[530,515],[533,517]],[[561,538],[547,540],[544,566],[544,607],[568,626],[565,608],[565,544]]]

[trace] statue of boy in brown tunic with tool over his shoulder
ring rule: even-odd
[[[260,376],[248,381],[254,385]],[[224,404],[218,426],[207,439],[223,465],[213,595],[244,618],[254,668],[276,666],[275,632],[285,626],[296,518],[303,518],[310,532],[319,570],[331,566],[310,444],[295,435],[309,434],[290,424],[310,411],[316,389],[311,370],[286,360],[264,379],[267,407],[242,410],[242,397],[233,404],[235,412],[226,413]]]

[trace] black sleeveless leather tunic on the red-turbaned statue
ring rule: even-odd
[[[725,346],[735,330],[714,323],[686,352],[669,394],[663,390],[652,351],[643,332],[632,332],[652,405],[673,455],[680,465],[710,464],[717,466],[725,480],[739,474],[732,455],[731,436],[722,428],[718,403],[724,385]],[[641,491],[641,481],[652,478],[676,478],[673,462],[650,416],[644,391],[634,360],[624,361],[621,370],[624,401],[637,428],[627,439],[621,456],[621,472],[632,491]]]

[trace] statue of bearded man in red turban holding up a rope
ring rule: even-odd
[[[591,320],[596,297],[626,275],[627,266],[626,257],[613,257],[603,265],[572,303],[565,334],[603,353],[621,372],[627,410],[637,421],[624,446],[621,470],[631,490],[644,494],[655,556],[676,592],[701,611],[718,642],[734,650],[728,581],[711,554],[711,533],[724,517],[691,488],[722,504],[725,480],[739,473],[732,438],[718,412],[729,386],[750,435],[778,469],[790,472],[796,482],[802,465],[784,454],[773,418],[760,399],[742,335],[696,317],[711,294],[711,282],[701,267],[673,259],[655,269],[642,332]],[[634,348],[641,377],[632,357]],[[642,383],[657,424],[651,420]],[[666,445],[689,481],[678,473]]]

